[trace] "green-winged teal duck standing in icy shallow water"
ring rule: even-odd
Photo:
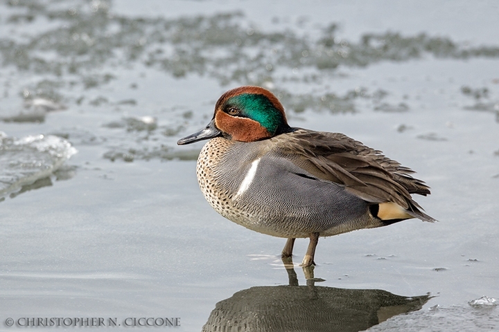
[[[343,133],[290,127],[278,98],[259,86],[222,94],[211,122],[178,140],[208,140],[196,174],[205,199],[239,225],[286,238],[308,238],[301,266],[315,265],[319,237],[417,218],[433,222],[412,199],[430,187],[414,171]]]

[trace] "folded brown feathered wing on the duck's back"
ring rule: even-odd
[[[410,216],[435,220],[424,214],[411,197],[411,194],[426,196],[430,188],[410,175],[414,173],[412,169],[387,158],[381,151],[342,133],[297,129],[273,139],[277,151],[316,178],[344,185],[369,203],[395,203]]]

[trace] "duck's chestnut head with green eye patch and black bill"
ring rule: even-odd
[[[259,86],[240,86],[218,99],[213,119],[207,127],[182,138],[177,144],[185,145],[218,136],[255,142],[291,130],[284,108],[275,95]]]

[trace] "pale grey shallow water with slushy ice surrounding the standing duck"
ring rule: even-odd
[[[0,3],[0,324],[180,317],[177,331],[209,331],[216,316],[268,331],[292,322],[276,308],[317,299],[349,317],[329,317],[340,331],[499,329],[493,301],[471,302],[499,297],[498,5],[269,6]],[[346,133],[417,170],[432,187],[417,201],[439,222],[320,239],[325,281],[306,286],[297,266],[292,277],[284,239],[204,201],[202,143],[175,145],[242,84],[279,95],[292,126]]]

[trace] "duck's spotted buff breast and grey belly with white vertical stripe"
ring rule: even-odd
[[[276,158],[228,163],[227,148],[210,143],[198,158],[198,182],[211,207],[234,223],[286,238],[378,226],[365,201],[340,185],[290,172],[287,161]]]

